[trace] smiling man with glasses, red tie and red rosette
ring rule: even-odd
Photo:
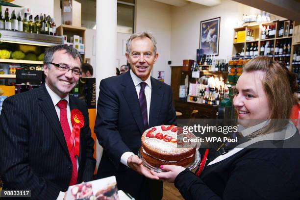
[[[50,47],[44,57],[46,83],[3,102],[3,190],[31,190],[33,199],[55,200],[63,199],[70,185],[92,180],[96,161],[87,106],[69,95],[82,74],[81,63],[77,50]],[[75,119],[81,127],[77,136]]]

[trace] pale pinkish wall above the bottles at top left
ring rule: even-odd
[[[17,7],[7,7],[7,6],[2,6],[2,15],[4,17],[4,11],[6,8],[9,10],[9,14],[13,11],[16,10],[16,15],[19,15],[19,12],[23,10],[24,8],[30,8],[31,9],[31,14],[33,17],[36,15],[46,14],[47,16],[50,15],[53,17],[53,5],[54,5],[54,0],[14,0],[12,3],[20,6],[24,6],[21,8]],[[46,8],[46,9],[45,9]],[[24,18],[24,15],[22,16],[22,19]]]

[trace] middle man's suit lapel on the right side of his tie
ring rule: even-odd
[[[159,112],[161,110],[161,102],[163,100],[163,91],[161,86],[158,85],[155,80],[151,77],[151,103],[150,103],[150,114],[149,114],[149,127],[157,125]]]

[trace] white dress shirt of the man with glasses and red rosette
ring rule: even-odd
[[[47,85],[47,83],[45,84],[46,86],[46,90],[47,92],[49,93],[50,95],[50,98],[53,102],[53,105],[55,107],[55,110],[56,110],[56,113],[57,113],[57,116],[58,116],[58,119],[60,121],[60,108],[58,107],[57,103],[60,101],[60,100],[67,100],[67,118],[68,118],[68,123],[69,123],[69,126],[70,126],[70,130],[71,130],[71,133],[72,133],[72,130],[73,130],[73,126],[72,126],[72,123],[71,123],[71,109],[70,109],[70,105],[69,105],[69,95],[67,95],[65,98],[61,99],[57,94],[55,94],[51,89],[50,87]],[[77,171],[78,171],[78,157],[76,157],[76,163],[77,163]],[[57,197],[56,200],[63,200],[65,196],[65,193],[60,191],[59,192],[59,195]]]

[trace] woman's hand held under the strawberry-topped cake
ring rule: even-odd
[[[173,183],[176,176],[185,170],[184,167],[181,166],[177,166],[177,165],[161,165],[160,169],[162,170],[167,170],[169,172],[160,172],[160,173],[156,173],[154,171],[151,170],[151,174],[158,176],[160,180],[167,180],[168,182]]]

